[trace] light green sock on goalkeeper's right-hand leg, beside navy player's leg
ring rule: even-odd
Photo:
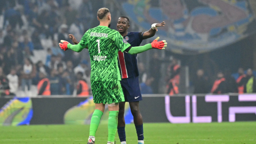
[[[114,142],[117,124],[118,124],[118,113],[119,111],[109,111],[108,116],[108,141]]]

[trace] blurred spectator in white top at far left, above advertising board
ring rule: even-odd
[[[12,68],[11,73],[7,75],[7,79],[9,80],[10,95],[15,95],[19,89],[19,78],[14,68]]]

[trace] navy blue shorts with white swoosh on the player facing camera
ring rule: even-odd
[[[141,101],[139,76],[122,78],[121,86],[124,92],[125,102]]]

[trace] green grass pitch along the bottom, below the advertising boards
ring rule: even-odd
[[[102,124],[96,143],[107,143],[107,125]],[[89,125],[0,126],[0,143],[86,143]],[[145,143],[256,143],[256,122],[209,124],[144,124]],[[118,135],[116,135],[119,144]],[[137,143],[133,124],[126,125],[126,142]]]

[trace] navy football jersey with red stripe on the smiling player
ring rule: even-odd
[[[132,47],[140,46],[143,40],[142,32],[131,32],[124,36],[124,39],[131,44]],[[133,76],[139,76],[139,70],[137,66],[137,54],[129,54],[126,52],[118,52],[118,66],[120,69],[121,77],[128,78]]]

